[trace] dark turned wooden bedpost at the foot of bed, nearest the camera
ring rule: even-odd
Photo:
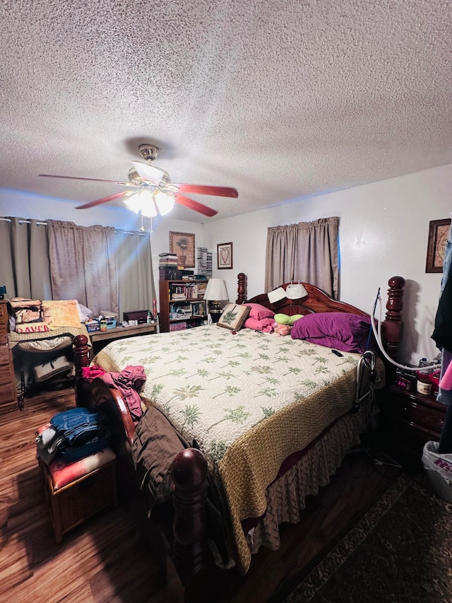
[[[207,462],[195,448],[172,462],[174,561],[182,582],[203,566],[206,539]]]

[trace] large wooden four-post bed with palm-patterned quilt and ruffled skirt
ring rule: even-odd
[[[304,315],[297,323],[330,312],[369,320],[366,312],[303,286],[299,299],[272,304],[262,294],[246,300],[241,273],[237,305]],[[400,276],[388,281],[382,327],[393,357],[402,334],[404,286]],[[160,517],[160,505],[172,498],[169,542],[184,582],[207,560],[246,573],[260,546],[277,549],[278,525],[297,521],[304,498],[328,484],[369,425],[371,398],[356,404],[360,353],[342,349],[336,356],[331,347],[292,334],[212,324],[114,341],[92,364],[107,374],[143,365],[139,420],[111,382],[82,379],[88,346],[85,337],[74,339],[78,404],[101,406],[111,416],[120,485],[130,494],[138,482],[151,518]],[[381,360],[376,375],[376,387],[383,387]],[[145,460],[149,440],[165,451],[158,467],[155,449]]]

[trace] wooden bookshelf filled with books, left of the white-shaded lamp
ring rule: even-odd
[[[160,332],[199,327],[207,317],[206,280],[159,281]]]

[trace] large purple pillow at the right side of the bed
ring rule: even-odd
[[[364,353],[371,329],[369,316],[343,312],[319,312],[296,320],[292,339],[305,339],[311,344],[335,348],[343,352]]]

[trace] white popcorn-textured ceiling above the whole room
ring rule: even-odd
[[[2,0],[0,187],[92,201],[138,145],[206,222],[452,163],[447,0]],[[90,211],[89,209],[85,211]],[[52,216],[46,216],[52,217]]]

